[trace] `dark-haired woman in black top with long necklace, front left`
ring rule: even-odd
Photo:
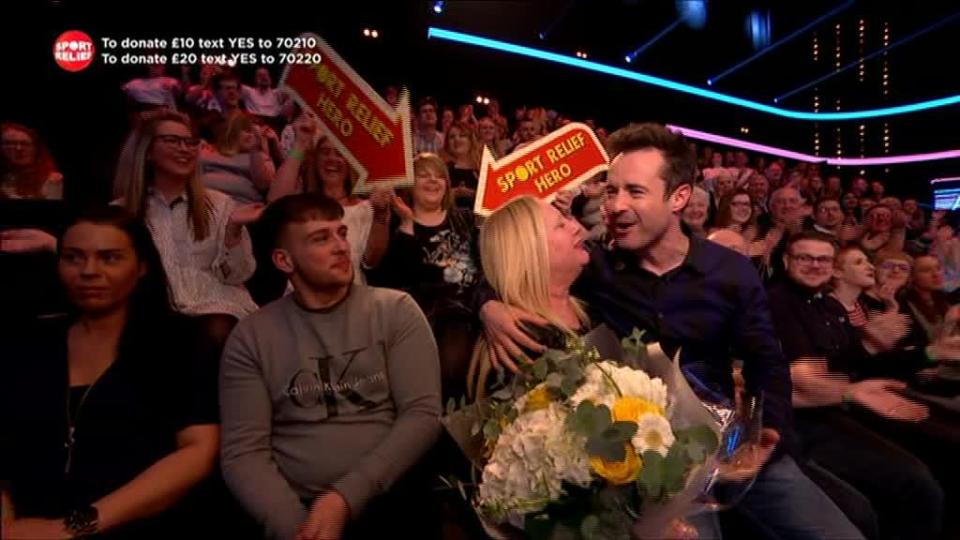
[[[206,535],[219,517],[180,503],[214,472],[217,357],[171,309],[150,233],[89,211],[59,275],[71,313],[0,343],[3,537]]]

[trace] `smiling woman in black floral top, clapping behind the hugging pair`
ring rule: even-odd
[[[470,307],[481,279],[477,224],[471,210],[453,205],[447,166],[439,156],[418,155],[413,172],[411,204],[393,199],[399,227],[370,282],[406,291],[417,301],[440,351],[444,401],[459,399],[478,331]]]

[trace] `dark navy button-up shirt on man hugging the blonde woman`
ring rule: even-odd
[[[681,347],[687,374],[727,398],[733,397],[731,360],[743,360],[747,391],[764,395],[764,425],[788,433],[790,370],[766,292],[746,257],[690,237],[681,265],[657,276],[632,253],[596,248],[572,292],[618,334],[646,329],[667,354]]]

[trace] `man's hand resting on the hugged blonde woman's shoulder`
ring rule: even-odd
[[[544,326],[546,319],[522,309],[510,307],[502,302],[491,300],[480,308],[480,320],[490,349],[490,363],[495,368],[505,367],[514,373],[520,369],[512,358],[526,355],[520,347],[534,352],[543,352],[546,347],[530,338],[518,324],[520,321]]]

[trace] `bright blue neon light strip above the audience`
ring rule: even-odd
[[[791,109],[782,109],[780,107],[773,107],[771,105],[760,103],[758,101],[751,101],[749,99],[743,99],[736,96],[731,96],[729,94],[722,94],[720,92],[714,92],[712,90],[698,88],[693,85],[671,81],[669,79],[655,77],[653,75],[647,75],[644,73],[639,73],[639,72],[631,71],[628,69],[609,66],[606,64],[601,64],[599,62],[594,62],[592,60],[584,60],[582,58],[577,58],[575,56],[557,54],[549,51],[544,51],[541,49],[535,49],[533,47],[526,47],[523,45],[517,45],[517,44],[509,43],[506,41],[500,41],[496,39],[475,36],[473,34],[465,34],[463,32],[456,32],[453,30],[446,30],[443,28],[437,28],[433,26],[431,26],[427,30],[427,38],[444,39],[447,41],[464,43],[466,45],[474,45],[477,47],[484,47],[487,49],[493,49],[501,52],[507,52],[511,54],[517,54],[520,56],[536,58],[538,60],[546,60],[548,62],[555,62],[557,64],[564,64],[567,66],[586,69],[589,71],[595,71],[597,73],[604,73],[606,75],[613,75],[615,77],[621,77],[624,79],[629,79],[629,80],[644,83],[644,84],[659,86],[661,88],[667,88],[669,90],[682,92],[684,94],[691,94],[694,96],[712,99],[714,101],[720,101],[722,103],[736,105],[738,107],[743,107],[745,109],[752,109],[755,111],[765,112],[767,114],[773,114],[773,115],[782,116],[785,118],[792,118],[794,120],[827,121],[827,120],[857,120],[862,118],[878,118],[878,117],[884,117],[884,116],[893,116],[896,114],[906,114],[911,112],[936,109],[939,107],[946,107],[948,105],[955,105],[957,103],[960,103],[960,95],[953,95],[953,96],[947,96],[939,99],[932,99],[928,101],[910,103],[906,105],[897,105],[895,107],[883,107],[880,109],[868,109],[868,110],[862,110],[862,111],[844,111],[844,112],[797,111],[797,110],[791,110]]]

